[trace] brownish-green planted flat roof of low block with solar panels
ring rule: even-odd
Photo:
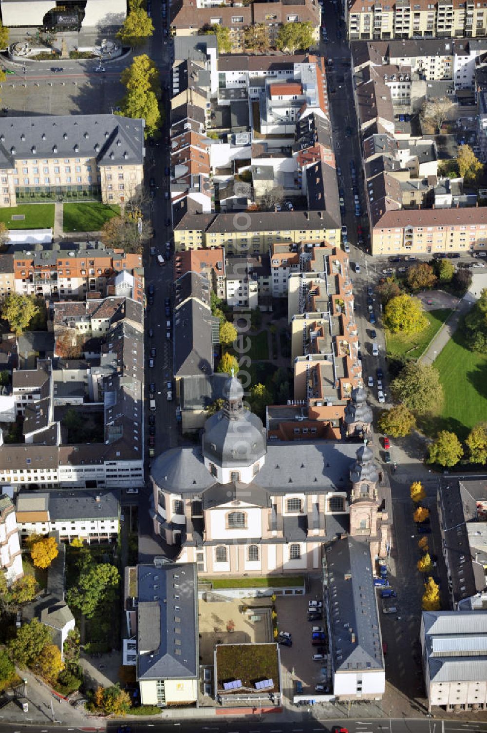
[[[239,694],[243,688],[256,690],[256,682],[262,679],[272,679],[274,685],[272,688],[266,688],[266,692],[278,692],[277,644],[218,644],[217,674],[218,690],[223,690],[223,682],[239,679],[242,687],[232,690],[235,694]]]

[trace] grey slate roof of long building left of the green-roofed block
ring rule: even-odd
[[[196,679],[196,564],[138,565],[137,597],[137,679]]]

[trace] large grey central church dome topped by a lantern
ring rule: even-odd
[[[262,421],[243,408],[243,389],[236,377],[223,387],[223,409],[204,426],[203,455],[222,468],[245,468],[267,452]]]

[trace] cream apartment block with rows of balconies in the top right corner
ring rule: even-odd
[[[487,10],[472,0],[439,0],[391,5],[350,0],[344,6],[349,40],[393,38],[475,38],[486,35]]]

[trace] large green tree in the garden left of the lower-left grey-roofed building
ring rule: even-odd
[[[116,597],[120,574],[114,565],[93,565],[81,572],[77,586],[67,592],[67,603],[92,619],[103,608],[110,608]]]

